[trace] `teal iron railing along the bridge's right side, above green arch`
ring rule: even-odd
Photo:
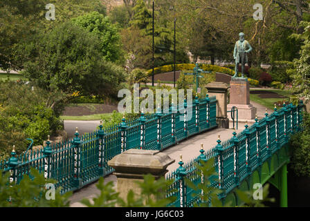
[[[234,132],[230,140],[221,142],[219,138],[217,146],[206,152],[202,150],[192,161],[183,163],[181,160],[179,168],[166,176],[167,180],[174,180],[167,191],[167,197],[176,196],[176,201],[170,206],[190,207],[201,202],[199,194],[194,196],[194,190],[185,184],[186,179],[201,183],[196,168],[199,159],[215,159],[213,169],[217,177],[210,177],[210,182],[212,186],[223,190],[219,198],[226,198],[253,171],[261,169],[267,160],[271,161],[273,154],[276,153],[279,158],[279,152],[289,142],[289,137],[301,130],[302,107],[302,102],[298,106],[284,104],[280,111],[275,108],[271,115],[266,113],[266,117],[260,121],[256,118],[252,126],[246,124],[244,131],[239,134]],[[285,160],[285,157],[282,158]],[[271,162],[268,163],[270,166]]]

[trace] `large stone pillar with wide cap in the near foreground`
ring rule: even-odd
[[[174,162],[175,160],[160,151],[131,149],[113,157],[108,165],[115,169],[113,174],[118,180],[117,191],[120,193],[120,198],[127,200],[127,193],[130,190],[140,194],[136,181],[143,181],[143,175],[150,173],[157,180],[165,176],[167,166]]]

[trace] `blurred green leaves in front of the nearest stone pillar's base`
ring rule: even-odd
[[[136,182],[140,187],[140,193],[134,193],[132,190],[127,194],[126,200],[120,198],[115,191],[113,182],[104,184],[104,179],[100,177],[97,188],[100,195],[93,198],[93,203],[88,199],[83,199],[82,204],[89,207],[164,207],[175,200],[174,197],[165,198],[165,190],[172,184],[172,181],[166,181],[165,177],[155,180],[154,176],[144,175],[143,182]]]

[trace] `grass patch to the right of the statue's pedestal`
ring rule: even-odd
[[[273,93],[277,93],[279,95],[283,95],[287,98],[261,98],[259,97],[259,95],[251,95],[250,94],[250,100],[253,102],[256,102],[257,104],[261,104],[262,106],[266,106],[266,108],[269,108],[271,110],[273,110],[273,108],[275,108],[275,102],[279,102],[281,100],[285,100],[285,101],[289,101],[289,95],[291,95],[291,93],[289,92],[289,90],[276,90],[276,89],[257,89],[257,90],[268,90],[271,91]]]

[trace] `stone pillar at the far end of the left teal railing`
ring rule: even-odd
[[[217,124],[220,128],[229,128],[227,117],[228,84],[223,82],[211,82],[206,85],[209,97],[217,97]]]

